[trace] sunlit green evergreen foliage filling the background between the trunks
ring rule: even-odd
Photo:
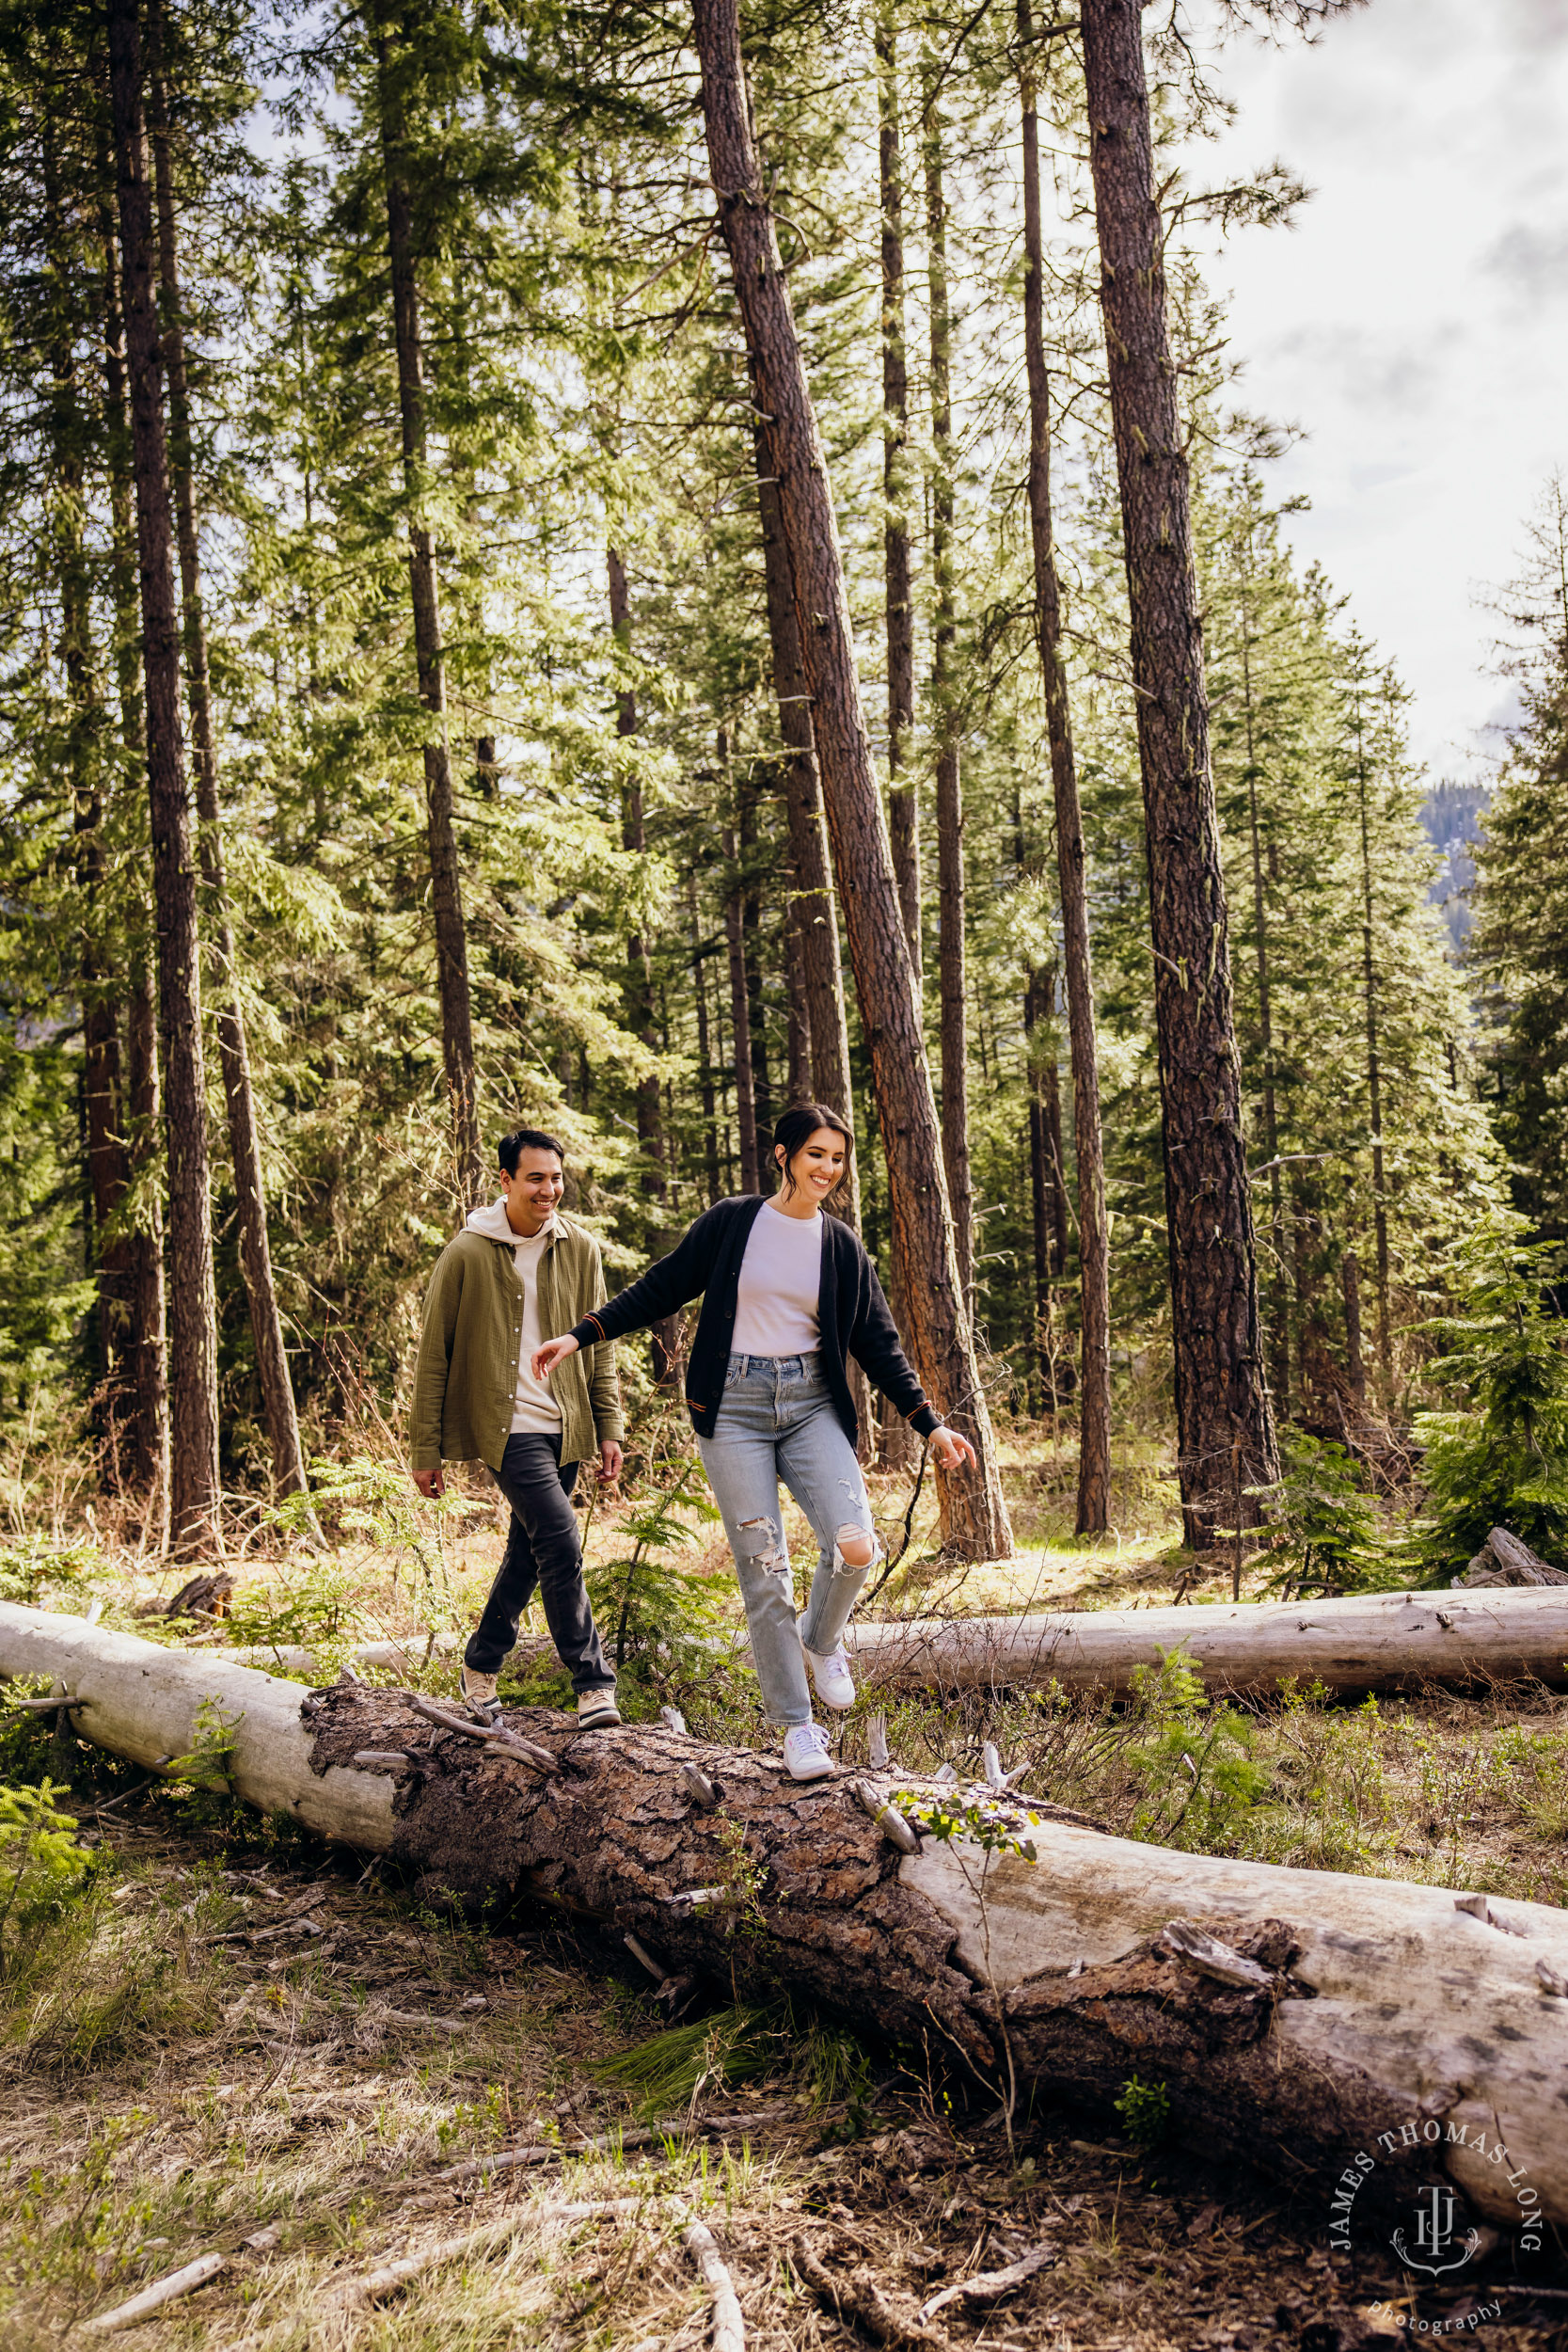
[[[165,0],[158,21],[235,929],[233,969],[205,981],[209,1000],[221,981],[244,1014],[292,1376],[324,1458],[367,1399],[393,1418],[407,1402],[423,1279],[461,1214],[409,604],[416,515],[440,574],[487,1143],[517,1122],[567,1138],[567,1207],[602,1237],[616,1284],[741,1181],[736,1025],[762,1124],[804,1089],[752,407],[675,21],[494,14],[473,0],[320,21]],[[1016,59],[973,16],[917,19],[898,0],[889,24],[905,127],[922,125],[922,75],[940,64],[931,122],[952,306],[952,437],[938,449],[917,186],[926,125],[905,136],[917,708],[903,757],[929,802],[938,741],[959,743],[976,1322],[992,1404],[1041,1411],[1072,1399],[1077,1195],[1018,494]],[[886,748],[872,26],[867,12],[755,12],[745,38]],[[1150,1343],[1168,1343],[1150,906],[1070,42],[1048,42],[1039,71],[1058,134],[1046,202],[1058,567],[1126,1381]],[[1161,129],[1192,127],[1208,103],[1168,80]],[[388,141],[407,165],[423,329],[414,473]],[[1295,193],[1274,174],[1227,202],[1234,221],[1267,221]],[[96,1399],[103,1435],[129,1312],[125,1251],[134,1235],[158,1249],[165,1169],[132,1084],[134,990],[155,938],[89,12],[14,0],[0,24],[0,1416],[26,1432]],[[1182,235],[1173,221],[1269,1381],[1279,1414],[1349,1442],[1368,1414],[1415,1395],[1432,1305],[1469,1263],[1458,1244],[1500,1202],[1502,1155],[1467,988],[1427,906],[1427,783],[1399,680],[1291,550],[1288,510],[1265,487],[1269,433],[1229,405]],[[945,583],[929,529],[938,475],[954,506]],[[1519,600],[1533,630],[1526,729],[1488,816],[1479,953],[1502,1148],[1521,1204],[1561,1232],[1568,541],[1561,489],[1554,499]],[[611,550],[625,569],[621,626]],[[954,628],[943,708],[926,691],[938,588]],[[931,910],[929,821],[922,837]],[[933,1047],[931,917],[924,938]],[[886,1275],[891,1202],[853,1004],[849,1040],[863,1230]],[[120,1155],[103,1183],[82,1169],[99,1068]],[[266,1484],[216,1091],[212,1110],[223,1468]],[[642,1362],[623,1357],[642,1402]],[[1319,1472],[1328,1491],[1324,1456]],[[350,1463],[350,1486],[360,1475]],[[324,1508],[388,1517],[386,1498],[350,1486]],[[675,1508],[649,1503],[616,1566],[618,1597],[602,1595],[628,1661],[668,1639]],[[402,1526],[393,1541],[411,1545]],[[1352,1536],[1342,1552],[1328,1536],[1312,1543],[1324,1573],[1349,1573]]]

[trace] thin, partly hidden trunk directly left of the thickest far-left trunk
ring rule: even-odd
[[[115,682],[120,696],[120,741],[127,771],[146,771],[146,713],[141,706],[136,602],[136,492],[132,480],[132,419],[125,381],[125,310],[120,303],[120,256],[115,238],[113,155],[99,153],[103,247],[103,447],[108,459],[110,515],[110,590],[115,612]],[[162,1270],[162,1195],[158,1185],[158,1018],[153,1004],[153,967],[146,934],[146,906],[134,898],[132,936],[127,941],[125,1000],[125,1155],[129,1202],[125,1209],[125,1289],[129,1305],[129,1472],[148,1486],[155,1503],[158,1552],[169,1543],[169,1357],[165,1341],[165,1270]]]

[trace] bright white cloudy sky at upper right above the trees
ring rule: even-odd
[[[1434,776],[1474,767],[1512,696],[1476,597],[1568,466],[1568,0],[1371,0],[1316,40],[1220,56],[1239,106],[1194,183],[1274,158],[1293,230],[1218,256],[1241,400],[1302,428],[1272,468],[1288,532],[1415,691]]]

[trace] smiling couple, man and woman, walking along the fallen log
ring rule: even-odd
[[[571,1489],[597,1456],[621,1475],[616,1341],[703,1301],[686,1404],[736,1559],[752,1665],[795,1780],[832,1773],[811,1715],[853,1705],[844,1628],[882,1557],[856,1456],[853,1357],[945,1470],[973,1463],[898,1345],[877,1270],[827,1214],[853,1136],[835,1110],[797,1103],[773,1129],[778,1192],[719,1200],[675,1249],[607,1303],[599,1244],[562,1216],[564,1150],[534,1127],[503,1136],[505,1192],[475,1209],[430,1277],[414,1371],[411,1468],[423,1496],[444,1461],[482,1461],[512,1519],[484,1613],[463,1653],[463,1696],[494,1717],[496,1675],[538,1590],[571,1672],[578,1724],[618,1724],[616,1675],[583,1583]],[[790,1489],[818,1541],[804,1616],[778,1505]]]

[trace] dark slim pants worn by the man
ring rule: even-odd
[[[545,1625],[555,1653],[571,1675],[574,1691],[616,1686],[604,1663],[599,1635],[583,1583],[583,1545],[569,1496],[576,1486],[576,1463],[562,1463],[559,1437],[543,1430],[517,1430],[505,1442],[496,1486],[512,1508],[512,1526],[501,1555],[496,1583],[489,1588],[484,1616],[468,1637],[463,1665],[475,1675],[498,1675],[501,1661],[517,1639],[517,1618],[534,1590],[545,1604]]]

